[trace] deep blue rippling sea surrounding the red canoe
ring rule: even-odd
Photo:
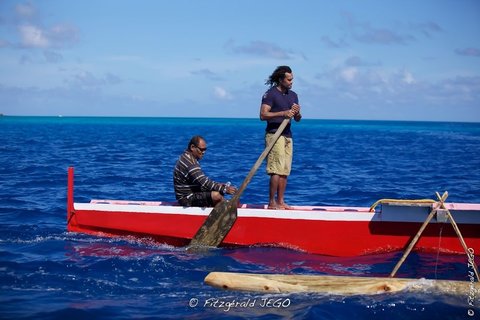
[[[472,308],[467,293],[266,295],[203,283],[210,271],[388,276],[402,252],[189,253],[66,232],[69,166],[76,202],[173,201],[173,166],[191,136],[207,140],[204,171],[239,186],[263,151],[263,131],[257,119],[0,117],[0,318],[480,319],[480,293]],[[480,202],[480,124],[304,119],[293,133],[290,204],[369,206],[380,198],[435,198],[436,191],[448,191],[448,201]],[[264,166],[241,201],[268,201]],[[398,276],[467,280],[467,273],[466,256],[414,252]],[[208,305],[211,299],[256,303],[227,310]],[[282,303],[262,306],[265,299]]]

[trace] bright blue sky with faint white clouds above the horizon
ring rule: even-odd
[[[0,113],[480,122],[480,1],[0,0]]]

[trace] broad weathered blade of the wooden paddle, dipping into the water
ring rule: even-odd
[[[222,201],[213,208],[190,241],[190,247],[218,246],[227,236],[237,220],[237,205],[232,201]]]

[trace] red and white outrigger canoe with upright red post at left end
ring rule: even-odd
[[[222,247],[276,246],[312,254],[359,256],[404,250],[437,203],[379,201],[372,207],[294,206],[269,210],[242,204]],[[448,211],[463,239],[480,252],[480,204],[445,203],[437,210],[415,250],[465,254],[449,223]],[[138,236],[174,246],[188,245],[212,208],[174,202],[91,200],[74,202],[74,170],[68,171],[67,229],[101,236]]]

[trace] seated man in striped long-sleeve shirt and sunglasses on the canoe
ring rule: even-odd
[[[223,200],[225,193],[237,189],[209,179],[202,171],[200,161],[207,151],[207,143],[201,136],[194,136],[185,152],[178,158],[173,171],[173,185],[178,203],[185,207],[214,207]]]

